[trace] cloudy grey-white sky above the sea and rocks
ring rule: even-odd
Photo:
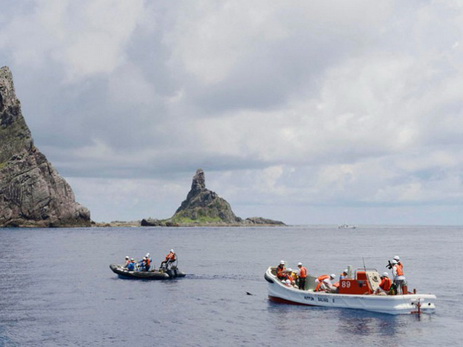
[[[463,224],[463,2],[0,0],[35,145],[94,221]]]

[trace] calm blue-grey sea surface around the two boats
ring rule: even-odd
[[[171,248],[187,277],[120,279],[109,264]],[[400,255],[432,315],[275,304],[264,272],[383,272]],[[463,341],[463,227],[0,229],[0,346],[455,346]]]

